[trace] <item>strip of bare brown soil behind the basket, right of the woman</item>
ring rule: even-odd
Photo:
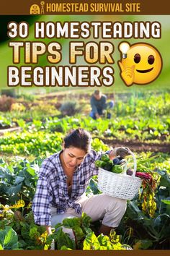
[[[140,142],[140,141],[122,141],[122,140],[108,140],[102,139],[104,144],[116,147],[128,147],[135,152],[162,152],[162,153],[169,153],[170,154],[170,144],[169,143],[147,143],[147,142]]]

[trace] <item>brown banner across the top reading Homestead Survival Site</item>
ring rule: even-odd
[[[7,2],[7,4],[6,4]],[[170,1],[155,0],[15,0],[1,1],[1,15],[131,15],[170,14]]]

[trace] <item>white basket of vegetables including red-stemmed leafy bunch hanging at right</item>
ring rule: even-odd
[[[109,155],[102,155],[95,163],[99,167],[98,188],[107,195],[128,200],[132,200],[140,188],[142,210],[153,218],[156,211],[155,191],[159,176],[156,171],[151,171],[143,163],[154,161],[157,156],[138,158],[137,171],[135,155],[133,153],[131,155],[133,159],[115,158],[113,161],[109,159]]]

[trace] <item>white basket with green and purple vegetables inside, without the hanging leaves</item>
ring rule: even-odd
[[[111,197],[132,200],[138,193],[142,179],[135,176],[137,164],[133,152],[129,152],[133,157],[133,175],[126,174],[127,161],[122,158],[109,159],[109,155],[102,155],[101,159],[96,161],[99,168],[98,189]],[[119,164],[115,164],[119,163]]]

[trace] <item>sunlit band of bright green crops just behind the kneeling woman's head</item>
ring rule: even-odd
[[[169,142],[170,119],[133,120],[115,118],[95,121],[90,117],[74,116],[63,119],[47,118],[45,121],[33,120],[32,123],[19,121],[21,132],[9,133],[0,137],[0,150],[4,153],[45,155],[55,153],[61,147],[61,140],[69,129],[82,127],[93,137],[112,140],[138,140],[140,142]]]

